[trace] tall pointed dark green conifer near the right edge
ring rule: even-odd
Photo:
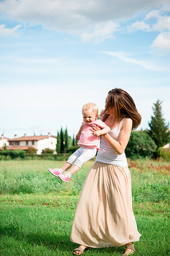
[[[148,134],[154,140],[157,150],[159,147],[163,147],[169,142],[170,132],[168,129],[168,123],[165,122],[162,114],[162,102],[159,100],[154,103],[152,107],[154,115],[151,117],[151,121],[148,123],[150,130]]]

